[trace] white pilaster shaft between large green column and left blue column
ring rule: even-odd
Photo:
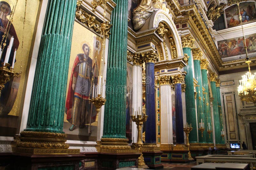
[[[132,71],[132,108],[142,110],[142,67],[133,65]],[[137,125],[132,122],[132,142],[137,142]]]

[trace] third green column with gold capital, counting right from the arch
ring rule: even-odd
[[[209,96],[209,85],[208,85],[208,79],[207,79],[207,67],[209,65],[209,62],[204,59],[201,61],[201,74],[202,74],[202,86],[205,89],[204,90],[204,113],[205,113],[205,131],[212,131],[212,116],[210,112],[210,96]],[[212,133],[206,135],[206,141],[207,143],[213,143],[213,137]]]

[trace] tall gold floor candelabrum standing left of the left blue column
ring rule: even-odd
[[[135,144],[136,149],[138,149],[139,152],[141,153],[141,155],[140,155],[140,157],[138,159],[138,167],[140,167],[140,168],[148,168],[148,166],[144,162],[143,154],[142,154],[142,151],[141,151],[141,146],[143,145],[142,138],[141,138],[141,136],[142,136],[142,133],[141,133],[142,125],[143,125],[144,122],[147,121],[148,116],[147,115],[143,115],[142,116],[142,110],[140,112],[140,109],[139,109],[139,114],[138,114],[138,111],[137,111],[137,115],[136,115],[136,113],[134,115],[132,113],[131,117],[132,117],[132,122],[136,123],[137,130],[138,130],[138,138],[137,138],[137,142]]]

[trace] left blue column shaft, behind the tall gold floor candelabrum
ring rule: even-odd
[[[153,62],[146,64],[146,121],[145,143],[156,143],[155,74]]]

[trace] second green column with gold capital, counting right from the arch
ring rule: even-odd
[[[206,128],[206,121],[205,121],[205,112],[204,112],[204,96],[203,96],[203,89],[202,89],[202,74],[201,74],[201,67],[200,67],[200,60],[203,56],[202,51],[199,48],[192,49],[193,58],[194,58],[194,72],[195,72],[195,79],[198,81],[196,92],[196,111],[197,111],[197,125],[198,128],[203,127],[203,136],[202,132],[198,129],[198,142],[199,143],[206,143],[206,136],[207,136],[207,128]],[[199,126],[200,123],[200,126]],[[201,124],[202,123],[202,124]]]

